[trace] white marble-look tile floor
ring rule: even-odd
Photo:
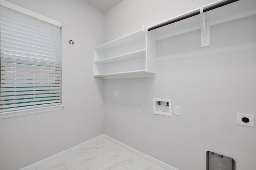
[[[36,170],[163,170],[105,139],[77,149]]]

